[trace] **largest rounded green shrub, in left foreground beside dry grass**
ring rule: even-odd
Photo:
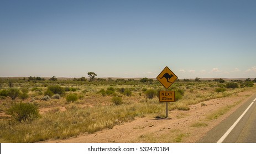
[[[18,122],[32,122],[34,119],[39,118],[38,107],[32,103],[15,103],[6,112],[11,115],[13,119]]]

